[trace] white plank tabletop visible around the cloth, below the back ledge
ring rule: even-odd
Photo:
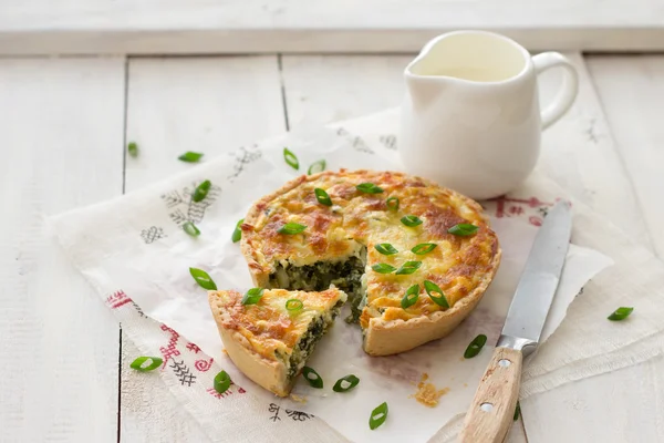
[[[664,55],[570,55],[581,93],[544,133],[542,165],[662,256]],[[411,58],[0,59],[0,441],[206,442],[174,400],[151,408],[170,394],[128,377],[133,344],[46,241],[44,216],[168,177],[188,150],[397,105]],[[543,100],[557,80],[542,79]],[[532,396],[510,441],[664,441],[663,374],[660,358]]]

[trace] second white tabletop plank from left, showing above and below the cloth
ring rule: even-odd
[[[129,61],[127,140],[139,156],[127,158],[127,192],[191,167],[177,159],[186,151],[205,161],[284,130],[276,55]],[[123,372],[135,352],[123,342]],[[124,372],[122,404],[123,442],[208,441],[158,379]]]

